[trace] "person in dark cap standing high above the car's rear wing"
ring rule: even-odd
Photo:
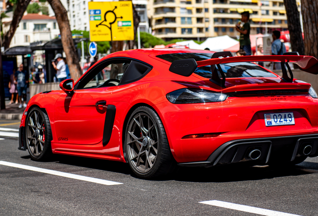
[[[246,55],[251,55],[251,47],[250,47],[250,24],[249,24],[249,12],[244,11],[241,13],[241,19],[244,24],[240,26],[240,22],[235,25],[236,30],[240,33],[239,35],[239,49],[243,49]]]

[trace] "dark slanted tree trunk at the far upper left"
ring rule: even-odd
[[[15,33],[17,26],[19,25],[19,22],[21,21],[23,13],[25,12],[29,2],[30,0],[17,0],[16,8],[13,12],[12,21],[10,24],[10,29],[3,36],[2,46],[4,46],[4,49],[7,49],[10,46],[11,39]]]

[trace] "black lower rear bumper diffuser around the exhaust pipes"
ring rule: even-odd
[[[307,147],[311,149],[310,152],[304,152],[304,147],[308,145],[311,147]],[[249,157],[249,153],[253,149],[261,152],[257,159]],[[318,156],[318,134],[232,140],[220,145],[206,161],[184,162],[178,163],[178,165],[210,167],[237,162],[265,165],[293,161],[301,155]]]

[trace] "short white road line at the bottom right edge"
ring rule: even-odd
[[[258,208],[258,207],[251,207],[248,205],[235,204],[235,203],[224,202],[219,200],[201,201],[199,203],[209,204],[209,205],[214,205],[218,207],[224,207],[224,208],[229,208],[229,209],[234,209],[239,211],[245,211],[245,212],[250,212],[255,214],[261,214],[266,216],[300,216],[297,214],[284,213],[280,211],[268,210],[268,209]]]

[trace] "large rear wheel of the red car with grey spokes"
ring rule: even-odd
[[[136,108],[130,115],[123,150],[131,170],[140,178],[166,175],[176,164],[161,120],[147,106]]]

